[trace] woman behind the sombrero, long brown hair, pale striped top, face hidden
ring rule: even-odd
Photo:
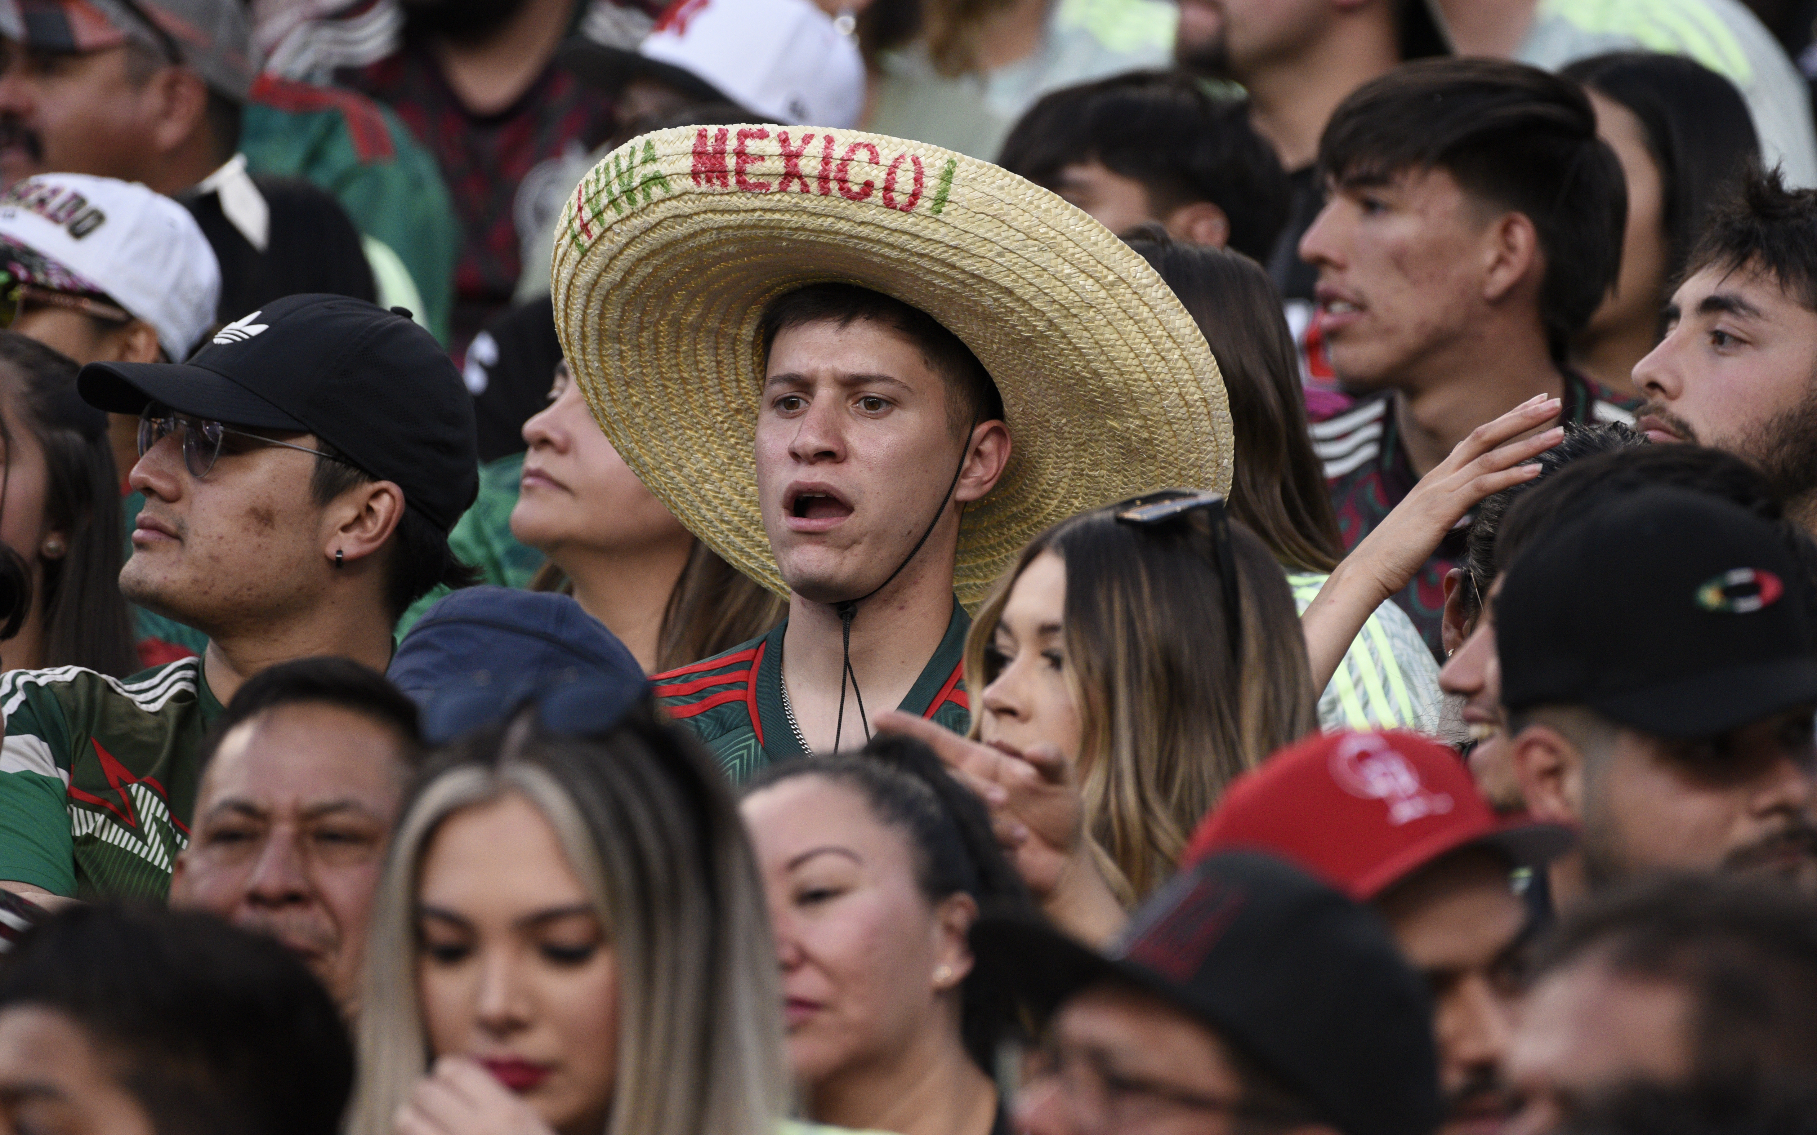
[[[1205,332],[1230,400],[1236,472],[1230,516],[1243,521],[1286,568],[1301,612],[1343,559],[1325,470],[1306,436],[1294,336],[1281,294],[1259,263],[1241,252],[1177,243],[1159,225],[1125,238],[1154,265]],[[1439,670],[1412,619],[1379,603],[1350,641],[1319,696],[1325,728],[1439,725]]]

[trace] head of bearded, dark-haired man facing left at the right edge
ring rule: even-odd
[[[1746,174],[1666,314],[1666,338],[1633,369],[1639,429],[1746,458],[1817,534],[1817,191]]]

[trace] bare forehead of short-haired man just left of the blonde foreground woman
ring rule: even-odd
[[[403,774],[398,735],[329,705],[285,705],[236,725],[204,777],[196,812],[223,799],[262,808],[309,808],[334,799],[389,814]]]

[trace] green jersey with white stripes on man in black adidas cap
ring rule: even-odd
[[[222,712],[202,659],[127,679],[11,670],[0,712],[0,879],[162,901],[189,844],[196,750]]]

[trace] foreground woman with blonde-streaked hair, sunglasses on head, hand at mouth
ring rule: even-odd
[[[458,743],[376,897],[352,1135],[774,1135],[776,953],[732,799],[587,683]]]

